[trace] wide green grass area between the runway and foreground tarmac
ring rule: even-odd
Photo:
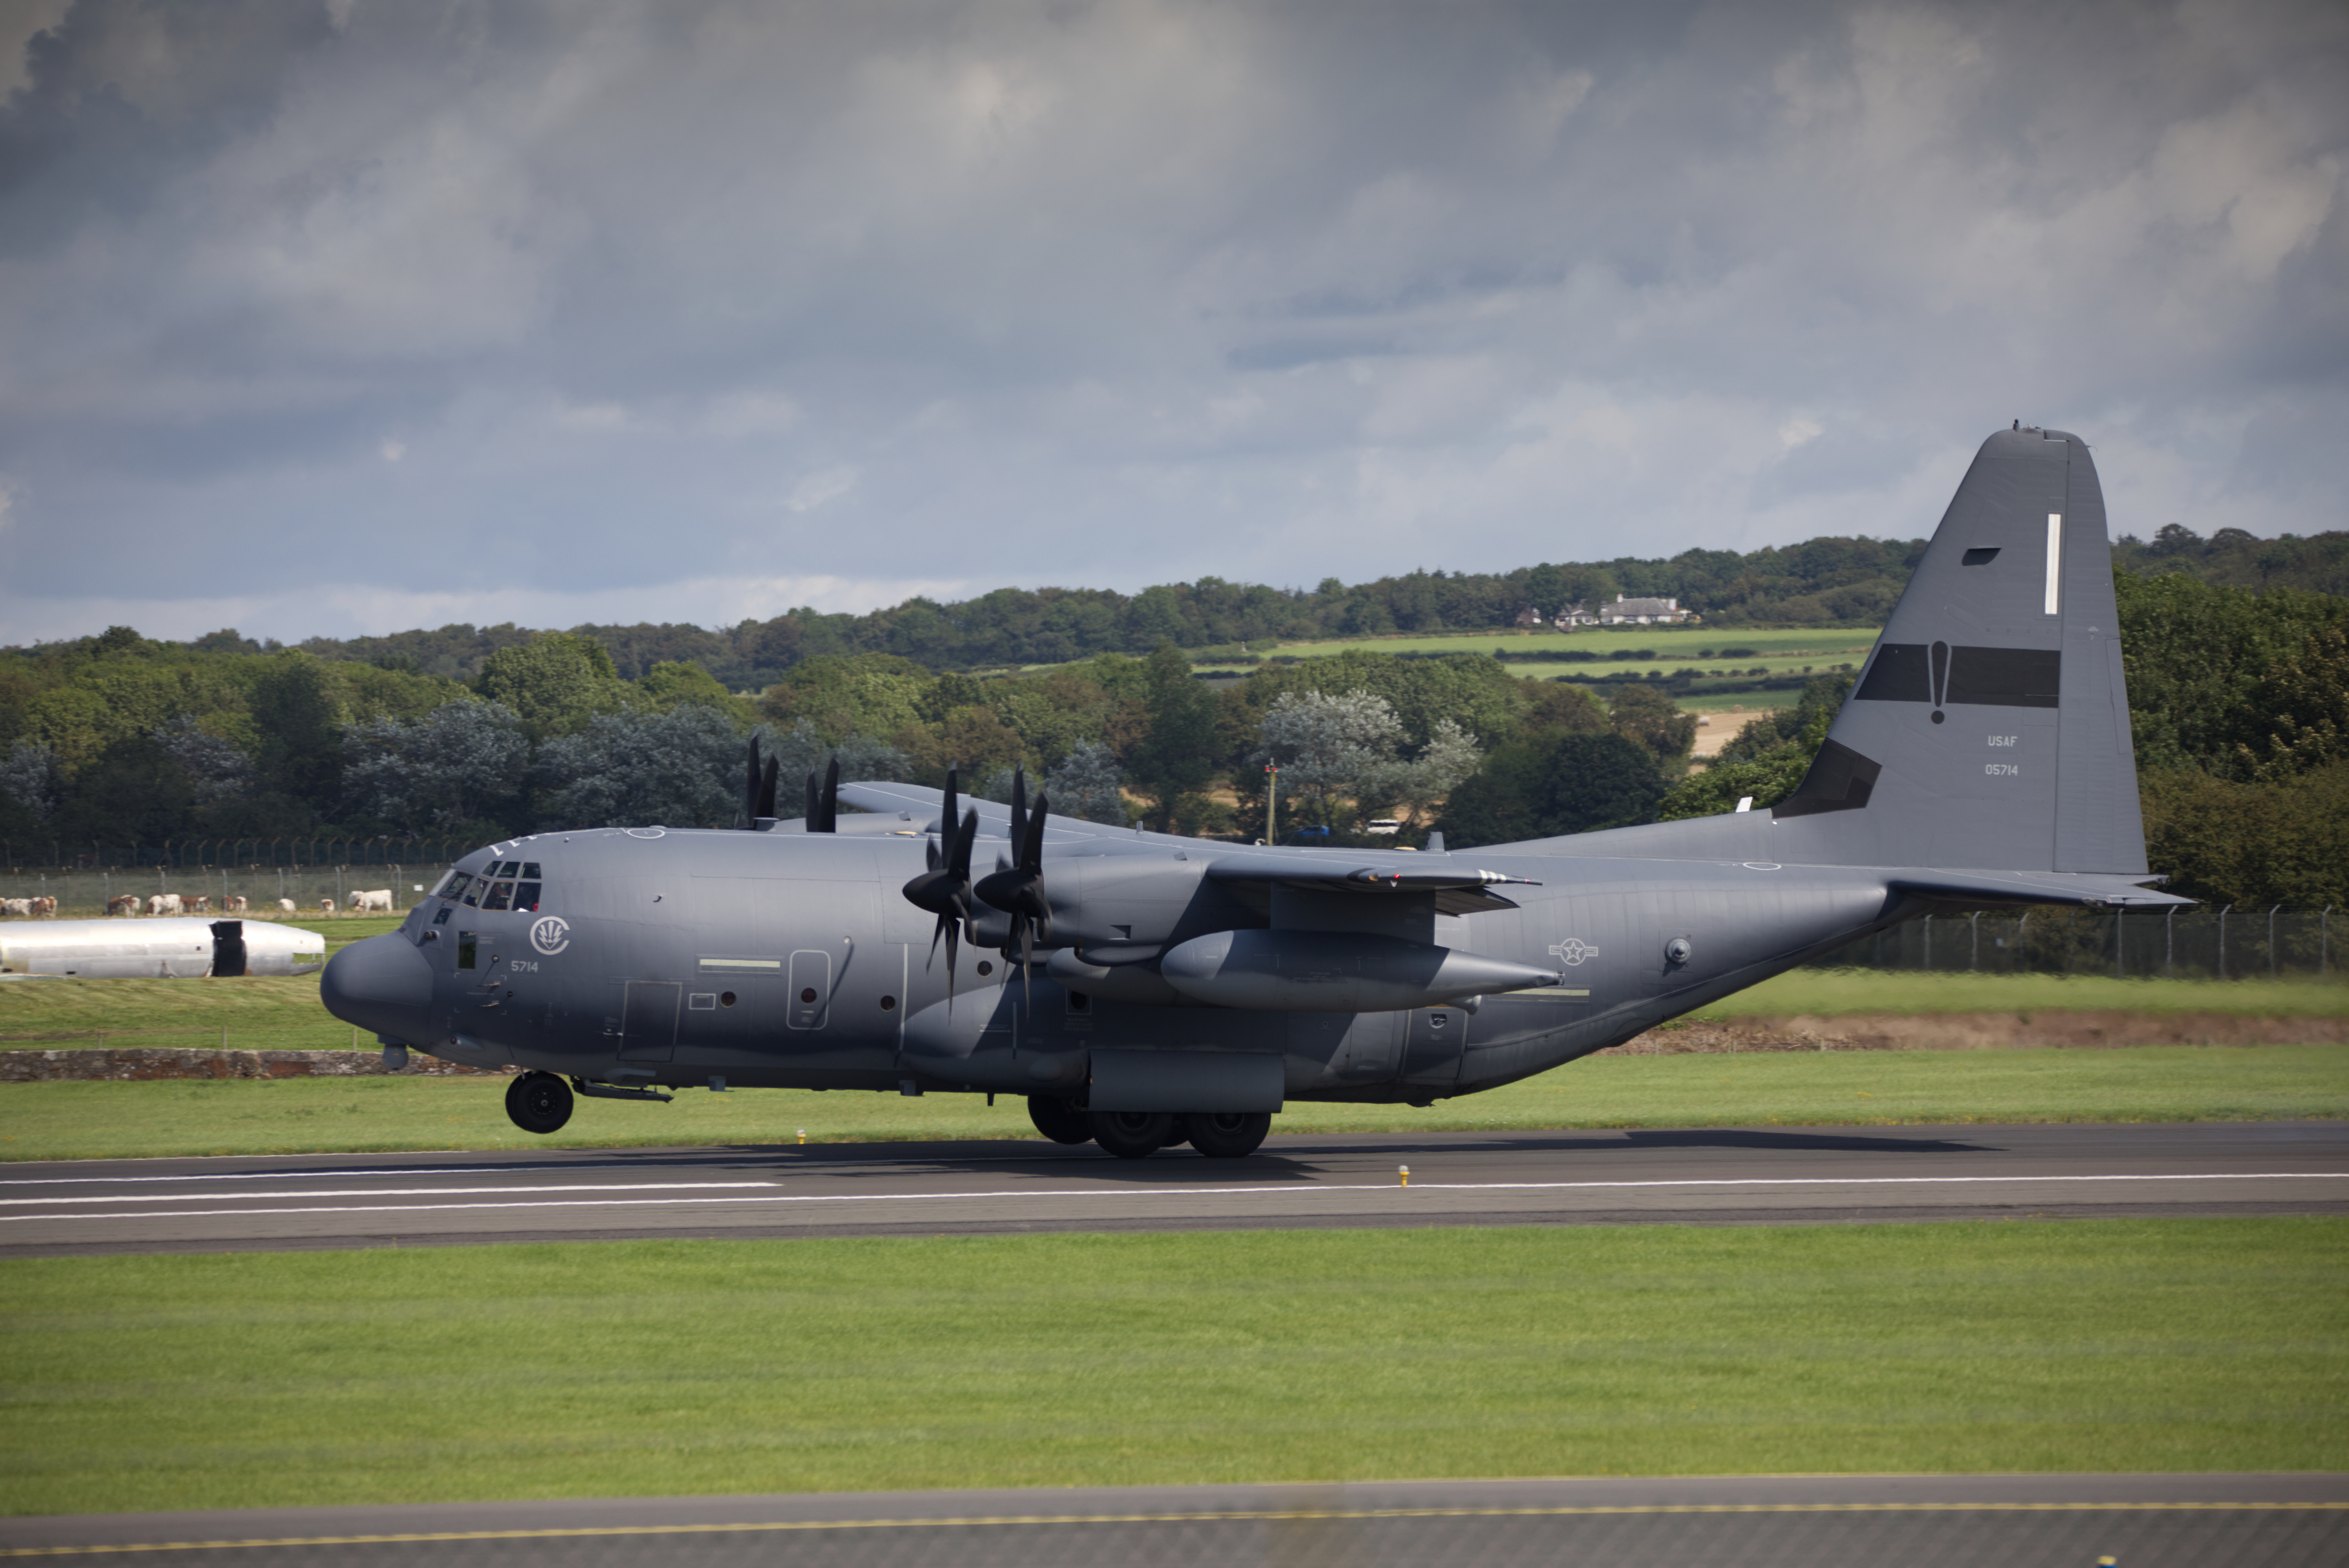
[[[35,1258],[0,1509],[2335,1469],[2349,1221]]]

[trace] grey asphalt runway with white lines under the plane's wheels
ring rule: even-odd
[[[12,1164],[0,1258],[1346,1225],[2349,1214],[2349,1122],[850,1143]]]

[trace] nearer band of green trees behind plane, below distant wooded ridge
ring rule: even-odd
[[[2173,556],[2175,559],[2175,556]],[[2119,570],[2152,861],[2232,904],[2349,904],[2349,599]],[[1001,796],[1027,768],[1059,810],[1264,838],[1393,819],[1468,847],[1785,798],[1851,676],[1813,681],[1703,770],[1696,721],[1626,681],[1593,695],[1485,655],[1348,648],[1203,683],[1160,638],[1031,674],[817,653],[745,697],[691,660],[630,676],[590,636],[529,634],[446,674],[94,638],[0,650],[0,838],[432,836],[733,822],[745,737],[799,777]],[[782,805],[794,815],[789,789]]]

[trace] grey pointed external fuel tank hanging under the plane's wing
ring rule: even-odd
[[[1297,930],[1193,937],[1158,972],[1198,1002],[1273,1012],[1405,1012],[1557,984],[1555,972],[1428,941]]]

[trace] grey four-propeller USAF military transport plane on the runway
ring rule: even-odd
[[[524,1068],[529,1131],[707,1082],[1019,1094],[1062,1143],[1238,1157],[1285,1101],[1492,1089],[1936,906],[2189,901],[2147,887],[2095,467],[2025,427],[1769,810],[1407,852],[965,805],[951,775],[773,798],[754,739],[747,831],[474,850],[327,965],[327,1007],[395,1063]]]

